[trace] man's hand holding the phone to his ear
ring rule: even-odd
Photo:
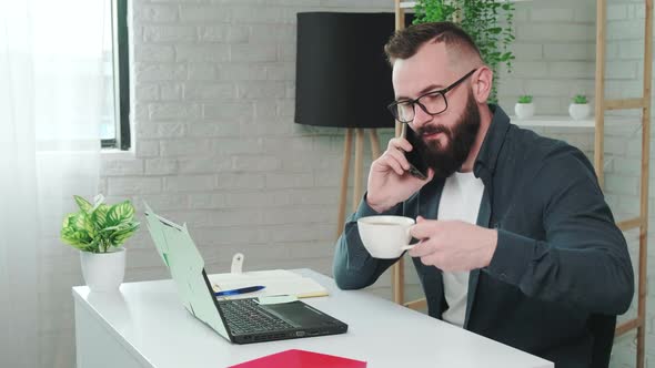
[[[407,127],[409,129],[409,127]],[[395,137],[389,141],[386,151],[373,161],[369,172],[366,203],[376,212],[384,212],[405,201],[423,185],[430,183],[434,170],[430,168],[427,178],[422,181],[412,176],[410,163],[403,151],[412,151],[407,140]]]

